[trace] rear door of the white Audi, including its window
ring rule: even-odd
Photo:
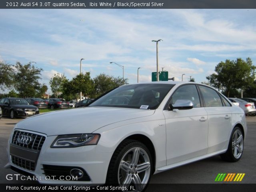
[[[208,153],[226,148],[231,129],[232,106],[216,90],[207,86],[198,86],[208,114]]]

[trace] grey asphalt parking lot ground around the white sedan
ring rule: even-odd
[[[14,125],[22,120],[3,117],[0,120],[0,183],[11,184],[24,181],[8,181],[6,174],[13,174],[5,169],[7,163],[6,146]],[[248,132],[244,143],[244,153],[240,161],[224,162],[220,156],[200,160],[185,166],[174,168],[153,175],[150,183],[156,184],[209,184],[214,182],[218,173],[245,173],[240,183],[256,183],[256,117],[246,117]],[[29,182],[26,182],[29,183]],[[30,182],[31,183],[31,182]]]

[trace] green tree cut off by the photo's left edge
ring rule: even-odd
[[[10,88],[14,83],[14,70],[12,65],[0,61],[0,89]]]

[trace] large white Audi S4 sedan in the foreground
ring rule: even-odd
[[[44,184],[63,184],[56,178],[74,176],[76,180],[66,182],[142,191],[152,174],[164,170],[219,154],[238,161],[246,131],[244,111],[210,86],[130,84],[86,108],[49,112],[16,124],[6,167],[41,178],[56,176],[39,181]]]

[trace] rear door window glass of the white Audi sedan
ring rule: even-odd
[[[205,86],[199,86],[200,91],[204,97],[204,102],[206,107],[222,107],[222,102],[219,94],[212,88]]]

